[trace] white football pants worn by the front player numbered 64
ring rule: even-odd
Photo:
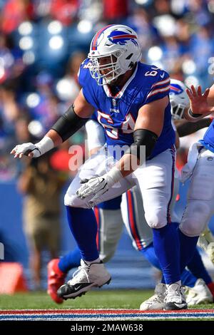
[[[80,199],[76,190],[81,187],[80,181],[105,174],[115,164],[108,155],[106,146],[91,156],[79,169],[65,195],[65,205],[71,207],[91,208],[93,196]],[[107,157],[107,158],[106,158]],[[139,167],[128,177],[122,178],[96,201],[99,202],[118,197],[134,185],[138,186],[143,197],[143,206],[148,225],[161,228],[170,221],[170,202],[173,195],[175,170],[175,149],[165,150],[155,158],[146,161],[146,166]]]

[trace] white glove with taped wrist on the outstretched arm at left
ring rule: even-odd
[[[22,158],[23,155],[29,156],[31,158],[37,158],[47,151],[54,148],[54,142],[48,136],[45,136],[39,143],[23,143],[16,145],[16,147],[11,151],[14,158]]]

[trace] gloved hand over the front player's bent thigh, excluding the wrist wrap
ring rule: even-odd
[[[81,184],[83,185],[76,191],[76,195],[81,199],[95,195],[93,197],[93,200],[95,200],[95,198],[108,191],[108,183],[104,177],[93,177],[89,180],[84,179],[81,180]]]

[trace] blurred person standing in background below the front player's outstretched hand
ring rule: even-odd
[[[60,247],[60,195],[65,180],[53,170],[50,155],[31,160],[19,177],[24,197],[24,232],[29,241],[30,267],[34,284],[41,287],[41,252],[47,249],[51,259]]]

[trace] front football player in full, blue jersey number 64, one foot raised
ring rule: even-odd
[[[15,157],[21,158],[29,150],[30,157],[39,157],[75,133],[94,109],[106,130],[107,147],[86,161],[66,192],[68,222],[82,259],[64,297],[75,298],[110,282],[111,275],[98,257],[96,218],[91,208],[138,185],[167,286],[165,309],[186,309],[180,286],[178,234],[170,224],[169,212],[175,163],[170,78],[165,71],[140,63],[138,38],[128,26],[111,25],[98,31],[88,56],[82,66],[85,85],[71,108],[39,143],[17,145],[12,150]],[[123,148],[115,160],[116,145]],[[123,155],[124,145],[128,149]]]

